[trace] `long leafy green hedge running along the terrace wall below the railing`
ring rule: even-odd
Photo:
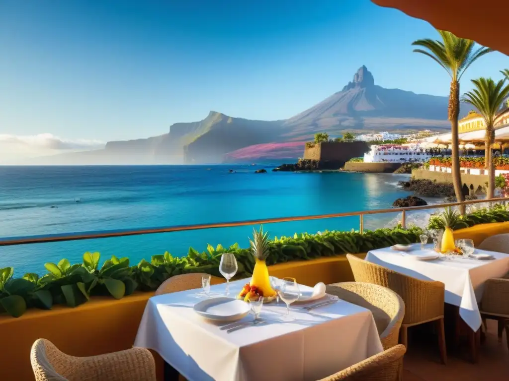
[[[478,209],[461,216],[454,229],[476,224],[509,221],[509,211],[503,205],[491,209]],[[438,216],[432,216],[428,229],[440,229]],[[371,249],[391,246],[396,243],[419,241],[422,229],[378,229],[375,231],[340,232],[325,231],[317,234],[295,233],[293,237],[275,237],[270,242],[267,265],[289,261],[311,260],[332,257],[347,252],[366,252]],[[184,273],[205,272],[216,276],[223,252],[234,252],[238,262],[238,276],[249,277],[254,268],[254,258],[247,248],[238,244],[230,247],[208,245],[199,252],[192,247],[185,257],[173,257],[168,252],[157,255],[151,261],[140,261],[131,266],[128,258],[115,256],[99,267],[98,252],[86,252],[83,262],[71,265],[67,259],[58,264],[46,263],[47,274],[39,277],[27,273],[13,277],[14,269],[0,269],[0,312],[18,317],[27,308],[50,309],[53,304],[75,307],[96,295],[110,295],[120,299],[136,290],[155,290],[167,278]]]

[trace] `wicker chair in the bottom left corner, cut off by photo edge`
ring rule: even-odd
[[[149,350],[126,351],[91,357],[68,356],[50,341],[38,339],[30,354],[36,381],[155,381],[156,368]]]

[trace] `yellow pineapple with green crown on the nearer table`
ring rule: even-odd
[[[276,295],[276,293],[270,285],[269,270],[265,263],[269,255],[269,233],[264,233],[262,226],[260,226],[259,231],[253,229],[253,238],[252,240],[249,239],[249,243],[251,244],[252,255],[256,261],[249,284],[251,288],[254,286],[260,290],[263,296],[272,297]]]

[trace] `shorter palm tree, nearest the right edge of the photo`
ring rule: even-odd
[[[509,94],[509,85],[505,85],[505,79],[495,83],[491,78],[472,79],[472,83],[474,88],[464,94],[462,102],[469,103],[479,110],[486,122],[484,148],[488,154],[488,198],[492,199],[495,196],[495,168],[491,151],[491,147],[495,143],[493,125],[500,116],[500,108],[505,97]]]

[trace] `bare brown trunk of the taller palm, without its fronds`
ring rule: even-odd
[[[458,115],[460,113],[460,83],[458,81],[451,81],[449,92],[449,120],[450,132],[452,135],[451,145],[451,174],[453,175],[454,193],[458,202],[465,201],[461,189],[461,173],[460,173],[460,155],[459,145],[460,139],[458,136]],[[465,214],[465,206],[459,207],[460,213]]]

